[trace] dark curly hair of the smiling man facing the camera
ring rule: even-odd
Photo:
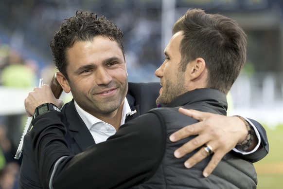
[[[94,13],[79,10],[76,12],[76,16],[62,22],[60,30],[55,33],[50,43],[50,47],[54,56],[55,66],[67,79],[66,68],[68,60],[66,53],[68,48],[75,41],[91,41],[98,35],[116,40],[124,54],[123,32],[106,17],[98,17]]]

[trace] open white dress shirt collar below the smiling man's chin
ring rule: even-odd
[[[88,130],[91,133],[96,144],[106,141],[109,136],[112,136],[116,133],[116,129],[112,125],[94,117],[90,113],[87,113],[81,107],[79,107],[76,101],[74,101],[74,103],[77,112],[88,127]],[[132,110],[127,101],[127,98],[125,98],[120,125],[123,125],[125,123],[126,115],[130,113],[132,113]]]

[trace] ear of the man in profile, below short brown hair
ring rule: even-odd
[[[191,76],[191,80],[200,79],[205,73],[206,64],[203,58],[196,58],[188,63],[188,71]]]

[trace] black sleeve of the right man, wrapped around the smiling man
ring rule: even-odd
[[[50,112],[53,114],[60,114]],[[65,126],[42,118],[32,130],[35,162],[44,188],[48,188],[55,162],[54,189],[124,189],[149,179],[158,169],[165,151],[166,133],[155,113],[129,121],[115,135],[71,155]],[[83,183],[83,184],[82,184]]]

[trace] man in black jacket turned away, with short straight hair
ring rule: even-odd
[[[173,152],[188,140],[197,142],[197,137],[169,140],[173,132],[197,122],[179,113],[184,112],[179,108],[226,114],[226,94],[246,61],[244,31],[232,19],[191,9],[175,23],[164,53],[165,61],[155,73],[161,85],[157,103],[164,108],[127,122],[106,142],[74,155],[65,138],[62,113],[51,111],[35,118],[33,155],[45,188],[256,188],[253,165],[234,151],[224,156],[210,176],[203,176],[215,143],[209,141],[177,159]],[[111,90],[103,94],[107,93]],[[206,158],[186,169],[183,162],[196,151]]]

